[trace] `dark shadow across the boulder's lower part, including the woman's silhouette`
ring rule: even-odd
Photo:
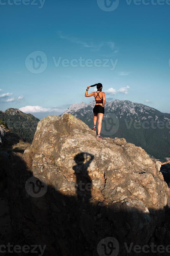
[[[55,165],[35,177],[18,154],[13,158],[8,168],[13,233],[1,241],[3,245],[28,245],[29,255],[52,256],[160,255],[157,246],[169,245],[168,209],[144,211],[137,200],[111,204],[92,196],[96,186],[88,167],[94,155],[75,155],[74,173],[65,173],[67,179]],[[145,252],[135,245],[146,245]],[[164,251],[163,255],[169,255]],[[11,255],[7,248],[4,255]],[[21,250],[13,255],[25,253]]]

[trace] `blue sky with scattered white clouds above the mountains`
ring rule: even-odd
[[[106,100],[170,113],[170,1],[120,1],[112,11],[104,1],[115,4],[0,1],[1,110],[58,115],[72,103],[93,100],[84,97],[87,85],[102,83]]]

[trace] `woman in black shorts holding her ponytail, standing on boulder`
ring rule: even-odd
[[[97,92],[92,92],[92,93],[88,94],[89,88],[93,87],[93,86],[97,86]],[[102,119],[103,119],[103,116],[104,116],[104,104],[106,102],[105,93],[102,92],[102,87],[103,86],[100,83],[94,84],[94,85],[89,85],[89,86],[87,86],[86,93],[85,93],[85,97],[91,97],[91,96],[95,97],[96,105],[93,108],[93,113],[94,113],[94,118],[93,118],[94,127],[93,127],[93,130],[96,131],[96,122],[97,122],[97,115],[98,115],[98,126],[97,126],[98,134],[97,134],[97,137],[96,137],[97,139],[104,139],[100,135],[100,132],[101,132],[101,129],[102,129]]]

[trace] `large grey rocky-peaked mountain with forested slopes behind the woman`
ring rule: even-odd
[[[95,101],[72,104],[64,113],[70,113],[93,127]],[[141,103],[114,100],[106,102],[102,135],[125,138],[127,142],[142,147],[156,158],[170,155],[170,114]]]

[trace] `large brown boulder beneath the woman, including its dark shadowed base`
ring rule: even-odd
[[[131,243],[128,255],[136,255],[134,245],[169,241],[161,165],[123,138],[95,135],[71,114],[46,117],[32,143],[31,170],[15,156],[20,168],[8,172],[12,226],[30,244],[46,245],[44,255],[106,255],[100,241],[109,237],[119,244],[114,255],[127,255]]]

